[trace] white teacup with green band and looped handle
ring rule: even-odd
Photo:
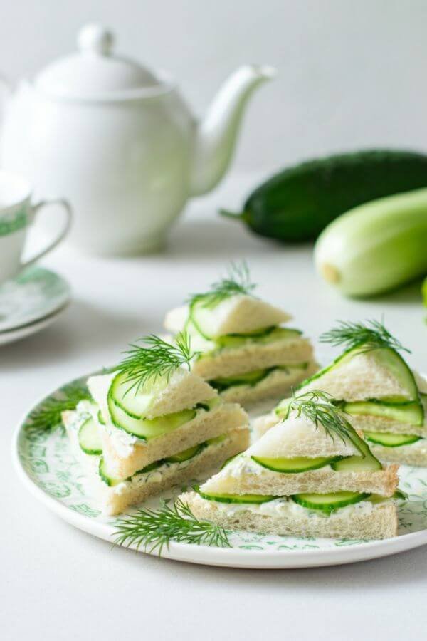
[[[50,204],[60,204],[63,207],[65,220],[62,229],[41,251],[22,261],[28,227],[33,223],[37,212]],[[66,200],[52,198],[31,204],[31,187],[26,179],[19,174],[0,171],[0,283],[18,276],[28,265],[56,247],[68,233],[70,222],[71,208]]]

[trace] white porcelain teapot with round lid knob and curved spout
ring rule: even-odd
[[[36,194],[70,201],[79,249],[137,254],[159,248],[186,200],[223,177],[243,107],[274,70],[239,68],[198,123],[167,75],[112,47],[110,31],[87,25],[78,53],[11,91],[0,167],[25,174]]]

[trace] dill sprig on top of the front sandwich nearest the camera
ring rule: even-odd
[[[298,396],[293,396],[287,407],[285,419],[290,412],[296,412],[297,417],[301,415],[312,421],[316,429],[319,426],[325,429],[326,434],[334,441],[338,437],[342,442],[355,442],[355,432],[352,425],[344,416],[342,410],[334,405],[333,397],[327,392],[312,390]]]

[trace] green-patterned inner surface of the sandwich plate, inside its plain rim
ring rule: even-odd
[[[83,385],[85,379],[75,382]],[[39,488],[84,518],[95,519],[115,527],[118,519],[124,516],[101,515],[83,469],[70,451],[65,432],[60,429],[54,432],[40,432],[31,427],[31,419],[26,419],[19,434],[19,458],[28,476]],[[399,474],[400,486],[409,495],[408,501],[398,503],[399,534],[424,530],[427,528],[427,469],[402,466]],[[196,479],[189,485],[194,482]],[[162,496],[176,496],[181,491],[182,488],[179,486]],[[157,508],[159,497],[149,499],[144,505]],[[129,510],[127,514],[134,513],[135,510]],[[320,550],[367,543],[357,539],[337,541],[325,538],[263,536],[252,532],[231,532],[229,538],[234,548],[249,551]]]

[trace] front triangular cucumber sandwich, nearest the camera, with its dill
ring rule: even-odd
[[[226,529],[303,537],[396,536],[397,465],[383,467],[329,395],[293,397],[246,452],[181,495]]]

